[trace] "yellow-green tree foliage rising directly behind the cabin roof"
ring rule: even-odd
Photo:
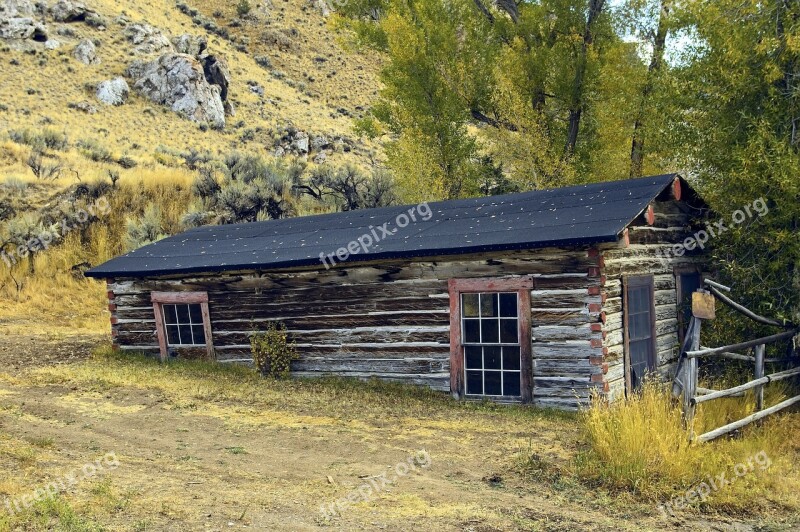
[[[520,189],[626,177],[646,69],[608,9],[589,17],[598,5],[348,2],[340,25],[389,59],[373,114],[394,134],[387,154],[403,199],[477,195],[496,168]]]

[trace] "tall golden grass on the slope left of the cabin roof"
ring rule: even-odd
[[[84,182],[107,179],[101,166],[90,167]],[[161,209],[165,233],[180,230],[181,216],[192,201],[193,175],[183,169],[142,168],[123,171],[106,199],[108,214],[66,234],[63,241],[8,267],[0,261],[0,322],[8,330],[37,323],[44,329],[105,331],[108,328],[104,283],[87,279],[81,265],[95,266],[125,249],[125,227],[147,205]],[[72,183],[53,183],[54,191]],[[31,262],[33,264],[31,264]]]

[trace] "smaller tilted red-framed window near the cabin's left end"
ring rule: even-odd
[[[171,348],[201,348],[214,358],[206,292],[153,292],[153,310],[161,359]]]

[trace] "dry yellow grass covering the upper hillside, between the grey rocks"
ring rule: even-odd
[[[230,39],[193,24],[173,0],[95,0],[89,4],[109,20],[125,13],[132,22],[149,23],[168,36],[205,35],[210,50],[228,59],[232,73],[230,98],[236,106],[236,116],[229,117],[224,131],[202,131],[197,124],[135,93],[123,106],[104,106],[95,99],[94,86],[123,75],[127,66],[142,56],[129,52],[131,45],[125,41],[119,24],[111,22],[107,30],[100,31],[74,23],[68,26],[77,36],[59,35],[63,45],[58,50],[5,54],[15,61],[4,66],[0,101],[7,110],[0,111],[0,131],[46,126],[66,133],[73,143],[81,139],[102,140],[115,156],[127,155],[140,162],[152,161],[159,146],[178,150],[192,147],[213,154],[232,149],[258,151],[271,149],[279,127],[288,123],[316,133],[352,135],[352,118],[337,109],[346,107],[353,113],[356,106],[368,107],[378,86],[377,59],[346,52],[327,28],[325,19],[301,0],[281,3],[280,8],[269,13],[259,9],[258,19],[246,21],[240,28],[229,28]],[[213,19],[215,12],[224,13],[214,19],[220,26],[227,27],[233,18],[233,3],[197,4],[209,18]],[[258,36],[266,27],[284,26],[298,31],[298,46],[293,51],[284,53],[260,42]],[[100,42],[100,65],[83,65],[72,57],[72,49],[81,38]],[[248,39],[253,44],[241,51],[241,43]],[[254,57],[259,54],[269,56],[275,70],[290,73],[294,80],[271,75],[256,63]],[[320,57],[325,61],[315,60]],[[264,87],[265,99],[254,94],[248,82]],[[82,101],[92,103],[99,112],[90,115],[69,108],[69,104]],[[246,130],[249,135],[244,135]],[[336,157],[351,159],[355,154]]]

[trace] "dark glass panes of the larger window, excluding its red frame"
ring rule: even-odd
[[[461,294],[467,395],[520,395],[518,307],[515,292]]]

